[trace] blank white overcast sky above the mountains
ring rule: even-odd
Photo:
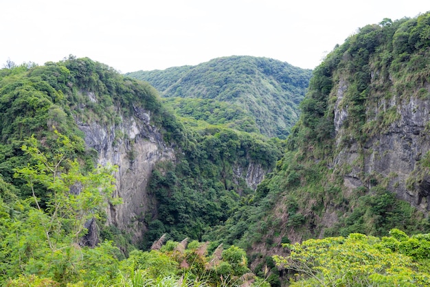
[[[264,56],[313,69],[359,27],[428,0],[0,0],[0,67],[72,54],[123,73]]]

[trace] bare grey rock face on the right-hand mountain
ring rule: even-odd
[[[344,185],[348,192],[359,186],[370,189],[376,183],[395,192],[422,211],[430,210],[430,176],[426,175],[421,159],[430,150],[430,102],[411,95],[393,95],[367,104],[367,125],[381,124],[378,116],[392,120],[378,126],[380,133],[370,133],[364,143],[352,141],[348,145],[341,138],[348,134],[343,122],[348,117],[347,107],[342,106],[348,87],[339,81],[335,104],[335,133],[339,154],[333,166],[348,166]],[[427,87],[430,91],[430,88]],[[374,116],[370,116],[374,115]]]

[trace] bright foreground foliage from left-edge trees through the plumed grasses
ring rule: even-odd
[[[117,201],[111,198],[113,169],[82,174],[78,161],[69,158],[77,143],[57,131],[55,135],[49,153],[41,152],[34,137],[22,147],[29,164],[17,169],[16,176],[27,182],[32,197],[21,200],[15,187],[0,181],[0,279],[7,286],[236,286],[254,280],[255,275],[245,276],[246,253],[236,246],[210,258],[209,242],[192,241],[185,249],[183,240],[170,242],[163,251],[131,251],[126,260],[120,260],[113,242],[81,246],[84,222],[102,217],[103,205]],[[167,173],[166,185],[176,180]],[[45,209],[36,184],[48,194]],[[259,280],[253,286],[267,284]]]

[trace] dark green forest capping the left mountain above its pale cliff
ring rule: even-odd
[[[0,73],[0,174],[19,188],[23,198],[31,190],[14,178],[14,168],[25,167],[23,139],[34,135],[46,152],[56,141],[54,130],[76,143],[72,159],[91,170],[97,156],[85,148],[78,124],[119,124],[125,115],[150,113],[151,124],[159,127],[165,141],[183,140],[183,126],[161,104],[154,88],[117,73],[89,58],[69,56],[44,66],[23,65]],[[36,190],[38,185],[34,187]],[[42,205],[45,195],[39,194]],[[44,206],[43,206],[44,207]]]

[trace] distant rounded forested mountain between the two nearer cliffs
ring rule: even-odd
[[[126,75],[148,81],[181,117],[285,139],[310,73],[269,58],[230,56]]]

